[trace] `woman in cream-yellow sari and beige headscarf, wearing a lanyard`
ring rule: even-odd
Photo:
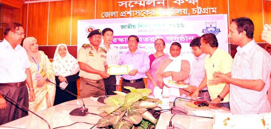
[[[52,63],[43,51],[38,51],[38,41],[34,37],[27,37],[23,41],[31,67],[32,83],[36,99],[29,102],[29,109],[33,112],[52,107],[55,100],[55,85],[46,81],[48,78],[55,83]]]

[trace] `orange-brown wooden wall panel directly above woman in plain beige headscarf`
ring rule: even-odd
[[[48,9],[49,2],[28,4],[27,36],[35,37],[39,45],[47,45]]]

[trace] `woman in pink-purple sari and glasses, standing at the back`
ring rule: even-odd
[[[154,42],[154,47],[156,50],[156,53],[150,54],[150,70],[146,73],[146,76],[148,77],[147,82],[147,88],[152,90],[152,94],[154,92],[154,88],[158,86],[158,83],[156,81],[155,77],[155,71],[157,70],[160,63],[169,57],[168,54],[164,53],[164,48],[166,47],[165,41],[161,38],[156,39]]]

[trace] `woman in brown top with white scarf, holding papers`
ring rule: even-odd
[[[190,64],[186,60],[182,60],[181,44],[174,42],[170,46],[169,58],[163,60],[155,73],[159,87],[163,89],[162,96],[181,96],[182,94],[189,95],[188,92],[178,88],[168,88],[169,80],[176,82],[184,80],[189,76]],[[161,90],[162,91],[162,90]],[[160,91],[160,94],[161,94]],[[154,93],[155,95],[157,93]],[[157,96],[157,95],[156,95]]]

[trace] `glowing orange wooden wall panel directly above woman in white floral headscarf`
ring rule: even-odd
[[[70,45],[71,0],[50,2],[49,6],[48,45]]]

